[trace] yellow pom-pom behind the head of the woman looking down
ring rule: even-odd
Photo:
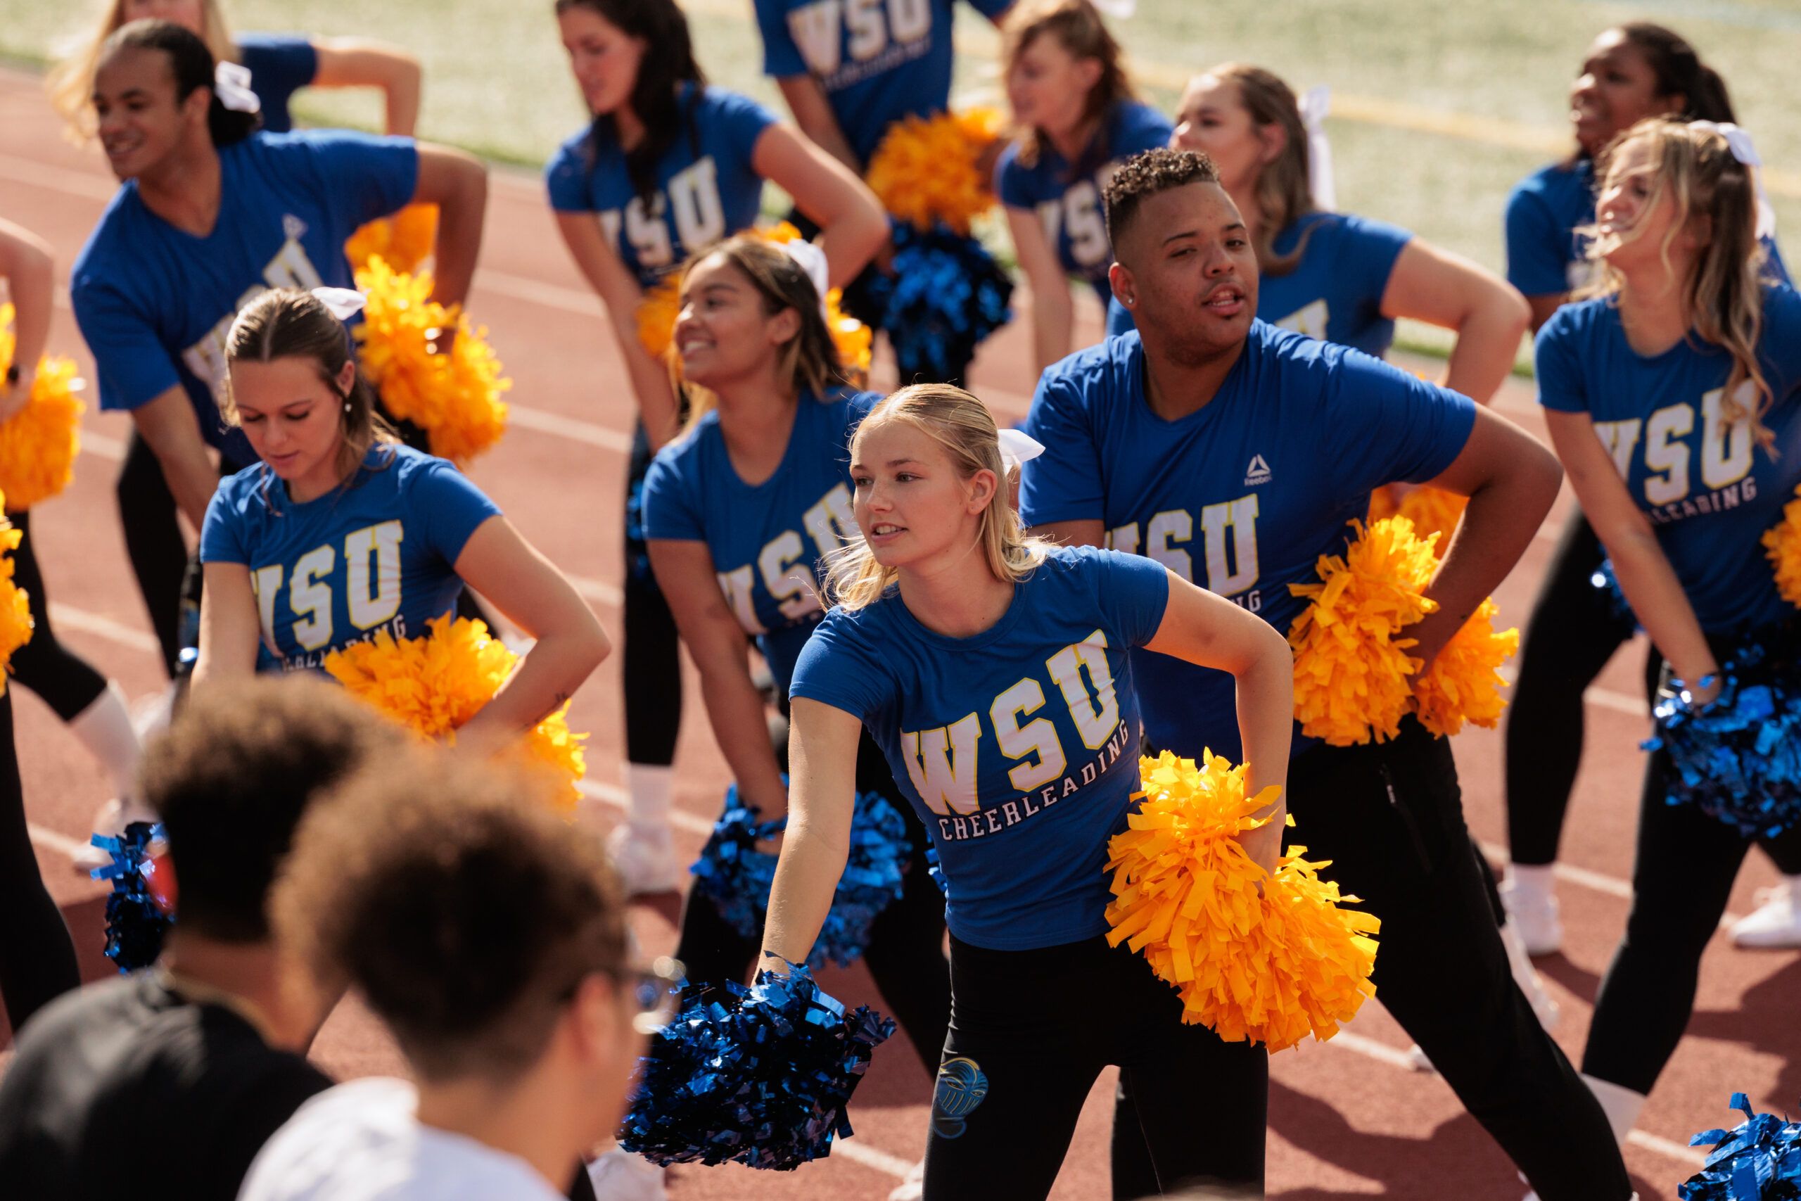
[[[501,393],[513,385],[488,346],[488,330],[461,306],[430,299],[432,277],[393,270],[380,256],[357,272],[369,299],[357,326],[362,369],[382,405],[430,434],[432,454],[466,463],[506,432]],[[452,337],[450,353],[438,353]]]

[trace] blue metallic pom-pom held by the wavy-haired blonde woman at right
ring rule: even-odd
[[[1745,837],[1801,821],[1801,670],[1783,632],[1743,641],[1720,668],[1720,695],[1697,708],[1680,681],[1657,697],[1657,735],[1675,767],[1671,805],[1698,805]]]

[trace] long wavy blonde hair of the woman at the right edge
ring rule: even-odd
[[[1751,167],[1733,157],[1725,135],[1697,128],[1675,117],[1650,117],[1615,137],[1597,162],[1603,182],[1612,164],[1632,146],[1646,151],[1650,194],[1641,212],[1652,212],[1664,196],[1675,200],[1675,220],[1664,234],[1659,256],[1664,270],[1675,272],[1670,247],[1689,230],[1698,247],[1695,263],[1682,281],[1682,304],[1691,313],[1695,333],[1733,357],[1720,418],[1727,425],[1751,418],[1758,445],[1772,450],[1774,436],[1763,425],[1772,393],[1758,366],[1758,339],[1763,333],[1765,250],[1758,241],[1758,189]],[[1617,295],[1621,274],[1599,254],[1596,227],[1576,230],[1588,239],[1588,259],[1596,279],[1576,299]],[[1628,229],[1619,234],[1630,241]],[[1752,405],[1738,396],[1751,384]],[[1774,452],[1772,452],[1774,454]]]

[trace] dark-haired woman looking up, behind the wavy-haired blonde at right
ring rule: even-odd
[[[1644,117],[1731,122],[1725,81],[1679,34],[1643,22],[1608,29],[1570,86],[1576,149],[1522,180],[1507,196],[1507,279],[1533,306],[1533,328],[1594,270],[1581,230],[1594,221],[1594,162],[1621,131]],[[1787,281],[1774,238],[1760,238],[1767,270]],[[1563,814],[1583,745],[1583,691],[1632,639],[1610,589],[1594,585],[1601,546],[1583,513],[1572,511],[1525,627],[1520,675],[1507,709],[1507,843],[1513,862],[1502,898],[1533,954],[1563,944],[1552,891]],[[1653,646],[1646,693],[1662,661]],[[1783,884],[1733,927],[1749,947],[1801,945],[1801,835],[1767,844]]]

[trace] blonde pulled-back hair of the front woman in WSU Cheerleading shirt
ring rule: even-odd
[[[994,429],[994,416],[987,405],[949,384],[902,387],[875,405],[857,427],[855,438],[850,439],[852,457],[857,443],[872,429],[893,421],[904,421],[944,447],[960,479],[973,479],[982,470],[994,472],[994,495],[982,510],[976,544],[996,580],[1018,583],[1030,576],[1032,569],[1045,562],[1052,544],[1027,535],[1019,524],[1019,511],[1012,506],[1012,484],[1019,468],[1009,470],[1001,463],[1000,430]],[[827,555],[825,567],[827,596],[834,605],[850,610],[873,605],[900,574],[897,567],[875,562],[875,555],[861,537]]]

